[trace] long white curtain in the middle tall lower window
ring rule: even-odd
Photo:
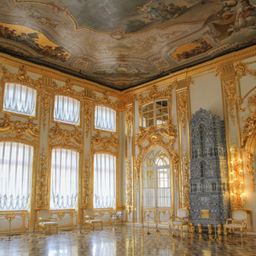
[[[76,207],[79,194],[79,153],[54,148],[51,157],[50,208]]]

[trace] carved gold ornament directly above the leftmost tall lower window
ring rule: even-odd
[[[33,118],[30,117],[26,123],[21,121],[12,121],[10,114],[5,113],[4,117],[0,119],[0,132],[5,134],[9,139],[31,140],[30,142],[36,143],[39,137],[38,126],[33,123]]]

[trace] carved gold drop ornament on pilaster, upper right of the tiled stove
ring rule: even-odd
[[[235,107],[236,107],[236,81],[228,79],[224,82],[225,100],[228,106],[229,115],[233,125],[236,122]]]

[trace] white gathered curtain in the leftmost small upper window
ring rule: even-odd
[[[3,110],[35,116],[37,90],[22,84],[5,84]]]

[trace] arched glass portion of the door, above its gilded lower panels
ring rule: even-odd
[[[171,169],[166,152],[154,148],[143,161],[143,207],[171,207]]]

